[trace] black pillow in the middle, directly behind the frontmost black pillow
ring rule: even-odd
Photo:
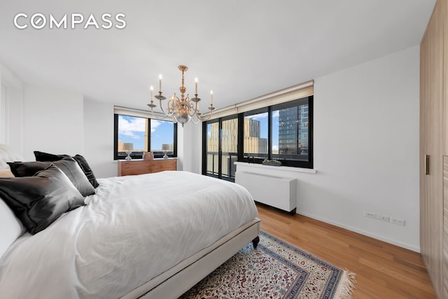
[[[13,172],[14,176],[18,177],[34,176],[36,172],[40,172],[50,166],[50,164],[54,164],[57,168],[61,169],[83,196],[95,194],[95,189],[87,180],[78,162],[71,157],[65,157],[62,160],[54,162],[8,162],[11,172]]]

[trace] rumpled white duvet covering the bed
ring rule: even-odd
[[[86,206],[10,246],[1,298],[119,298],[257,216],[246,189],[199,174],[98,181]]]

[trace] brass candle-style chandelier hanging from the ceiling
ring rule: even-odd
[[[177,97],[176,93],[168,100],[167,109],[163,109],[162,101],[167,99],[162,95],[162,75],[159,75],[159,94],[154,97],[159,100],[160,109],[165,114],[165,118],[172,117],[174,123],[181,123],[182,127],[190,120],[193,123],[199,123],[200,121],[209,120],[214,111],[213,106],[213,90],[210,90],[210,114],[207,118],[201,117],[200,112],[200,101],[201,99],[197,97],[197,78],[195,78],[195,97],[190,99],[189,95],[185,96],[186,88],[183,85],[183,73],[188,71],[188,67],[185,65],[179,65],[179,70],[182,72],[182,86],[179,88],[181,92],[181,98]],[[151,108],[151,113],[154,115],[153,109],[157,106],[154,104],[153,100],[153,86],[151,86],[151,104],[148,106]],[[162,118],[163,119],[163,118]]]

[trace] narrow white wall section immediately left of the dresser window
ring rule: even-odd
[[[84,100],[84,152],[97,178],[116,176],[113,160],[113,104]]]

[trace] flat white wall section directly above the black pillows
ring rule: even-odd
[[[24,98],[26,160],[33,151],[83,154],[83,95],[27,85]]]

